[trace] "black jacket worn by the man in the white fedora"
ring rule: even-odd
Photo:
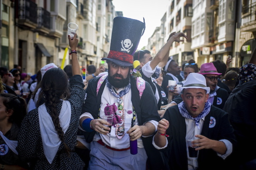
[[[214,117],[216,124],[209,127],[210,118]],[[169,121],[169,128],[166,131],[168,137],[168,146],[162,151],[168,153],[170,169],[186,170],[188,169],[188,158],[186,150],[186,124],[185,118],[179,113],[178,106],[169,107],[164,114],[164,119]],[[233,145],[236,140],[233,128],[228,121],[228,114],[223,110],[211,106],[210,113],[205,117],[201,135],[214,140],[227,139]],[[167,155],[167,154],[166,154]],[[228,160],[223,160],[212,149],[202,149],[198,153],[198,164],[200,170],[219,170],[226,169]]]

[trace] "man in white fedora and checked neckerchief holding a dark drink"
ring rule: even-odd
[[[228,157],[236,143],[234,130],[228,114],[207,101],[210,88],[205,77],[190,73],[180,89],[183,101],[169,107],[159,121],[154,147],[167,154],[170,169],[229,167]],[[192,141],[198,153],[194,157],[189,155],[188,139],[196,139]]]

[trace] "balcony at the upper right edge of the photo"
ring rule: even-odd
[[[243,7],[243,14],[242,14],[242,23],[241,23],[241,31],[256,31],[256,17],[255,17],[255,8],[256,2],[244,6]]]

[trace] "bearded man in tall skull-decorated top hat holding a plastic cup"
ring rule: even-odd
[[[160,117],[150,85],[130,75],[144,30],[141,21],[114,18],[110,52],[103,58],[108,75],[89,81],[80,117],[85,139],[91,142],[89,169],[146,169],[144,137],[156,132]],[[113,117],[112,124],[104,116]]]

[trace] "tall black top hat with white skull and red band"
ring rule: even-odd
[[[142,23],[135,19],[115,17],[109,55],[102,60],[111,61],[121,66],[132,66],[133,54],[144,31],[145,20]]]

